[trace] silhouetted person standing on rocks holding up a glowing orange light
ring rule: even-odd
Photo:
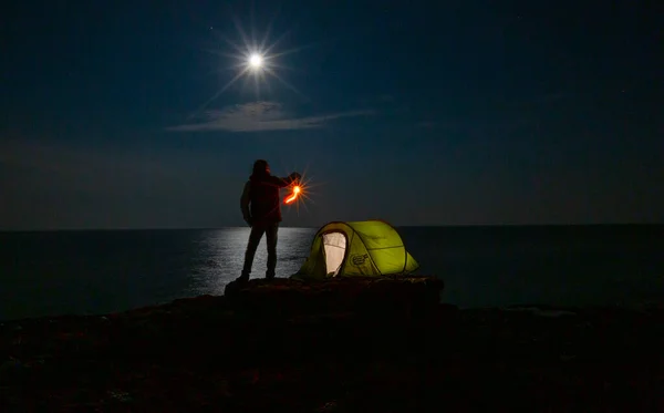
[[[245,221],[251,227],[247,251],[245,252],[245,266],[239,281],[248,281],[253,265],[253,256],[258,244],[266,235],[268,244],[268,270],[267,279],[274,278],[277,268],[277,233],[281,223],[281,202],[279,189],[291,185],[301,176],[293,172],[286,178],[270,175],[270,166],[267,161],[258,159],[253,163],[253,172],[245,184],[245,190],[240,198],[240,208]]]

